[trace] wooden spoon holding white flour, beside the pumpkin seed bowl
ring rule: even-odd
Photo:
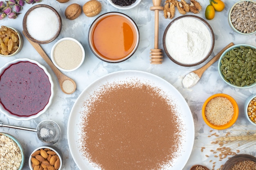
[[[215,63],[215,61],[217,61],[221,54],[227,50],[227,48],[234,46],[234,43],[230,43],[227,46],[225,46],[215,57],[213,57],[206,65],[204,65],[203,67],[199,68],[198,70],[194,70],[193,72],[190,72],[189,74],[187,74],[183,80],[182,80],[182,84],[184,87],[186,88],[190,88],[193,87],[196,83],[198,83],[198,81],[200,80],[200,78],[202,77],[202,74],[204,73],[204,71],[209,68],[210,65],[212,65],[213,63]]]

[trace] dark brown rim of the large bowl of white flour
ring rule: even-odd
[[[169,49],[167,47],[168,43],[166,43],[166,41],[168,41],[168,39],[167,39],[168,31],[169,31],[169,29],[171,29],[173,23],[175,23],[177,20],[182,20],[183,18],[193,18],[193,19],[196,19],[196,20],[200,21],[202,24],[204,24],[204,26],[206,26],[206,28],[208,29],[208,31],[210,33],[210,36],[211,36],[211,47],[209,49],[209,52],[200,61],[196,61],[194,63],[182,63],[181,61],[178,61],[177,59],[174,59],[170,54],[172,49],[171,48]],[[179,39],[177,39],[176,41],[179,41]],[[212,30],[211,26],[209,25],[209,23],[206,22],[201,17],[195,16],[195,15],[182,15],[180,17],[175,18],[174,20],[172,20],[170,22],[170,24],[168,24],[168,26],[166,27],[166,29],[164,31],[164,35],[163,35],[164,52],[166,53],[168,58],[171,59],[171,61],[173,61],[174,63],[176,63],[178,65],[186,66],[186,67],[199,65],[199,64],[203,63],[205,60],[207,60],[208,57],[211,55],[211,52],[213,51],[214,43],[215,43],[214,33],[213,33],[213,30]],[[181,57],[183,57],[183,56],[181,56]]]

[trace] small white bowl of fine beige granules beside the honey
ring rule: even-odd
[[[73,47],[71,45],[67,46],[67,44],[64,44],[65,41],[72,41]],[[75,55],[75,51],[72,51],[74,49],[77,49],[79,51],[81,50],[81,56],[79,56],[79,58],[76,58],[78,56]],[[61,52],[61,55],[57,54],[57,52]],[[64,72],[72,72],[82,65],[85,59],[85,50],[82,44],[76,39],[65,37],[58,40],[52,47],[51,59],[54,65],[59,70],[62,70]]]

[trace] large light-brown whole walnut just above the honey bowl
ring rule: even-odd
[[[101,12],[101,2],[89,0],[83,5],[83,13],[88,17],[94,17]]]

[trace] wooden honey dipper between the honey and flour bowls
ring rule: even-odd
[[[163,11],[164,7],[161,7],[161,0],[152,0],[153,7],[150,7],[151,11],[155,11],[155,49],[150,51],[150,63],[151,64],[162,64],[163,61],[163,52],[161,49],[158,49],[158,34],[159,34],[159,11]]]

